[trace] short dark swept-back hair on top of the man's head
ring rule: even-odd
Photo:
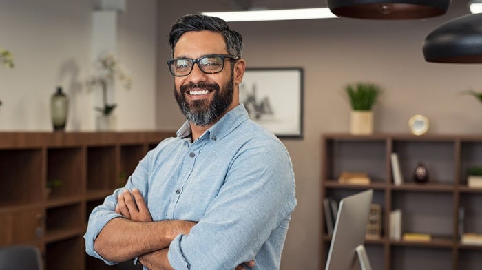
[[[185,32],[208,30],[218,32],[224,37],[228,54],[242,57],[242,36],[240,33],[229,29],[226,21],[218,17],[202,14],[190,14],[180,17],[171,27],[169,32],[169,45],[171,56],[174,56],[174,47]]]

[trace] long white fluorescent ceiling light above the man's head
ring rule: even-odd
[[[300,19],[337,18],[329,8],[300,8],[290,10],[247,10],[229,12],[202,12],[224,21],[282,21]]]

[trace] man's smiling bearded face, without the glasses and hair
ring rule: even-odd
[[[210,54],[228,54],[221,34],[211,31],[186,32],[174,48],[174,58],[198,59]],[[187,119],[199,126],[209,126],[239,104],[238,90],[229,59],[216,74],[205,74],[197,64],[187,76],[175,77],[174,96]]]

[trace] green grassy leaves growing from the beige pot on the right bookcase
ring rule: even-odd
[[[353,110],[368,111],[372,110],[373,105],[377,102],[381,88],[373,83],[356,83],[346,85],[345,91]]]

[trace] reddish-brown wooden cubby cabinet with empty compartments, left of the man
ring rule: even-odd
[[[48,270],[111,269],[85,255],[90,211],[170,136],[175,133],[0,132],[0,247],[36,245]]]

